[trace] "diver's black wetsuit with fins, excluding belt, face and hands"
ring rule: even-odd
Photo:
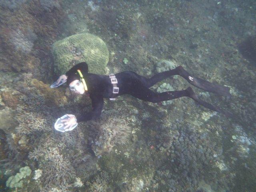
[[[84,64],[85,63],[83,62],[72,67],[68,72],[66,72],[66,76],[68,76],[69,78],[76,72],[76,70],[80,68],[82,69],[82,67],[84,67]],[[149,89],[152,85],[156,84],[157,82],[173,75],[180,75],[183,78],[185,78],[190,84],[203,90],[214,92],[222,96],[230,96],[228,87],[213,84],[206,80],[202,80],[200,78],[191,76],[190,74],[188,74],[188,72],[186,72],[186,70],[184,70],[184,68],[182,68],[182,66],[178,66],[173,70],[158,73],[151,78],[140,76],[132,71],[117,73],[115,74],[115,76],[118,80],[118,94],[112,93],[113,85],[111,84],[109,76],[84,73],[83,76],[88,87],[88,93],[92,100],[92,112],[87,112],[77,117],[77,122],[88,121],[98,118],[102,112],[104,98],[113,98],[113,96],[119,96],[123,94],[130,94],[140,100],[153,103],[187,96],[206,108],[209,108],[216,112],[227,114],[219,107],[213,106],[212,104],[200,100],[190,87],[186,90],[166,91],[162,93],[154,92]]]

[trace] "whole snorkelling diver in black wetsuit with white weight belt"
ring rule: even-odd
[[[78,94],[88,93],[92,100],[92,111],[78,117],[66,114],[61,118],[58,118],[54,128],[60,132],[66,132],[73,130],[77,126],[78,122],[96,119],[102,112],[104,98],[115,100],[117,96],[123,94],[130,94],[135,98],[152,103],[172,100],[180,97],[189,97],[210,110],[227,116],[229,115],[228,112],[225,112],[218,106],[214,106],[198,98],[191,87],[188,87],[185,90],[166,91],[162,93],[154,92],[149,89],[157,82],[174,75],[182,76],[193,86],[205,91],[212,92],[220,96],[231,96],[229,93],[229,87],[210,83],[201,78],[192,76],[184,70],[182,66],[160,72],[151,78],[146,78],[132,71],[110,74],[109,76],[91,74],[88,73],[88,65],[86,62],[81,62],[73,66],[68,72],[66,72],[66,74],[61,75],[50,87],[58,87],[67,82],[71,91]]]

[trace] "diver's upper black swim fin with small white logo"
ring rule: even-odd
[[[191,76],[186,70],[184,70],[182,66],[178,66],[176,69],[178,69],[178,74],[180,76],[185,78],[190,84],[200,89],[203,89],[212,93],[216,93],[221,96],[231,96],[231,94],[229,93],[229,90],[230,90],[229,87],[214,84],[206,80],[203,80],[201,78]]]

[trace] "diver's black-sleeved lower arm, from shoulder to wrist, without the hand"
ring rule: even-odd
[[[100,117],[104,105],[103,96],[90,95],[90,98],[92,99],[92,111],[80,115],[78,118],[76,118],[77,122],[89,121]]]

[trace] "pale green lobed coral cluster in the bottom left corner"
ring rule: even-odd
[[[26,166],[20,168],[20,172],[17,173],[15,176],[10,176],[8,180],[6,181],[6,186],[10,188],[19,188],[22,187],[23,185],[23,178],[26,176],[30,176],[31,174],[31,169]]]

